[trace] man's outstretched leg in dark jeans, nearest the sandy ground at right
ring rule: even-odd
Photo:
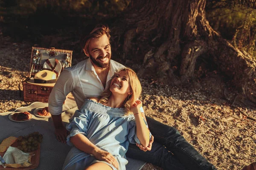
[[[164,145],[175,158],[189,170],[216,170],[183,136],[174,128],[146,116],[154,141]]]

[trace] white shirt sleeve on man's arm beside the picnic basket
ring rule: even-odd
[[[52,115],[61,114],[63,102],[65,101],[67,94],[73,91],[74,84],[72,74],[70,71],[64,69],[49,96],[49,112]]]

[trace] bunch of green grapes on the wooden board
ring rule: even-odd
[[[28,134],[27,136],[19,136],[19,145],[17,146],[17,148],[22,150],[23,152],[30,153],[38,149],[38,144],[40,144],[42,140],[43,135],[39,132],[33,132]]]

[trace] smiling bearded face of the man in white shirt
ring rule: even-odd
[[[90,40],[89,51],[85,54],[90,57],[94,66],[107,68],[111,59],[111,46],[107,35]]]

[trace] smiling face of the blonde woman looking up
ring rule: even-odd
[[[110,91],[117,94],[130,95],[131,87],[125,71],[120,71],[111,81]]]

